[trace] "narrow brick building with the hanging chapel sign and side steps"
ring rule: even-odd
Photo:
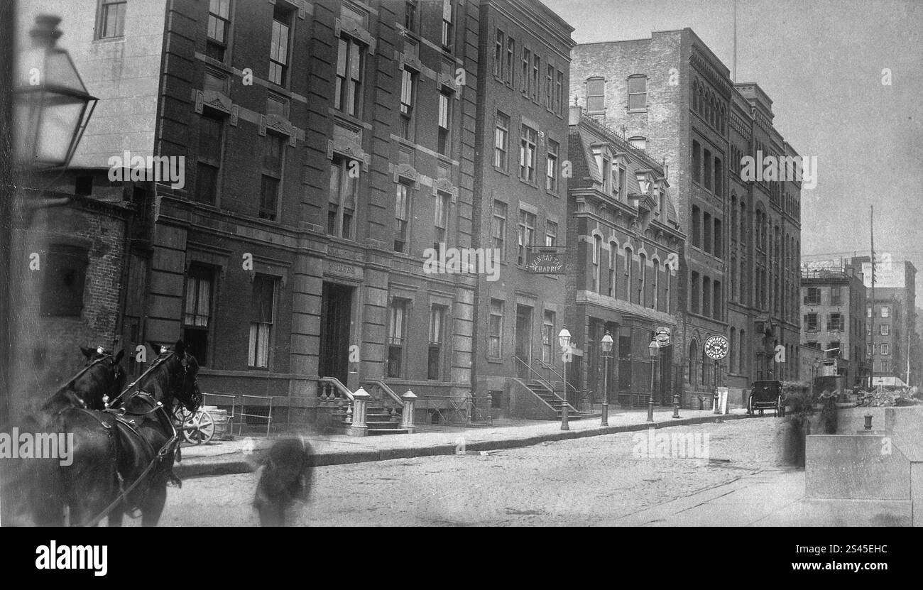
[[[562,375],[557,333],[565,274],[536,272],[537,248],[559,252],[569,235],[567,89],[573,30],[537,0],[483,2],[477,54],[472,233],[497,252],[497,275],[476,278],[473,372],[500,414],[537,375]],[[562,387],[563,391],[563,387]]]

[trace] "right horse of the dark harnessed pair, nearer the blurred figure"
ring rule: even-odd
[[[122,515],[136,509],[142,525],[160,521],[167,483],[179,483],[173,475],[180,439],[172,418],[174,401],[190,412],[198,409],[202,395],[197,374],[196,358],[177,341],[174,350],[164,350],[138,380],[115,396],[105,412],[118,415],[116,456],[124,490],[109,512],[110,526],[121,524]]]

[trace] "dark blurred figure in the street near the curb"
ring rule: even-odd
[[[253,507],[260,526],[287,525],[286,513],[311,492],[314,452],[305,439],[282,439],[272,445],[263,464]]]

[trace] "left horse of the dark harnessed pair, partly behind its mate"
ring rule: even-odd
[[[34,433],[64,434],[73,460],[69,465],[54,458],[20,461],[13,485],[28,504],[34,524],[61,526],[65,506],[71,522],[79,522],[102,510],[118,491],[112,461],[114,420],[88,407],[102,407],[104,396],[112,397],[125,386],[126,375],[119,367],[123,353],[84,349],[87,366],[22,425]]]

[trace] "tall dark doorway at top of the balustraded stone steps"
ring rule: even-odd
[[[320,296],[320,377],[335,377],[343,385],[349,378],[350,325],[354,287],[324,283]]]

